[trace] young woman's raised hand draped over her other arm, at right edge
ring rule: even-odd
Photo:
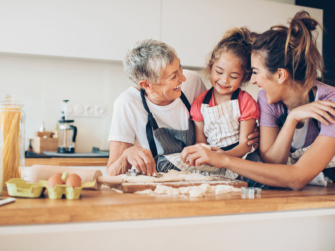
[[[307,118],[313,118],[328,126],[328,122],[335,124],[335,120],[331,117],[331,115],[335,117],[334,108],[335,103],[330,100],[316,100],[293,109],[287,118],[291,118],[297,123]]]

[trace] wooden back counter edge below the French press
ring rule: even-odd
[[[107,166],[108,157],[51,157],[25,158],[25,165],[57,165],[57,166]]]

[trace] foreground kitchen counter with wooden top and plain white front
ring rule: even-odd
[[[78,200],[17,198],[0,206],[1,250],[332,251],[334,232],[335,184],[263,190],[255,199],[102,187],[82,190]]]

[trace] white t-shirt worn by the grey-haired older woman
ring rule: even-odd
[[[183,70],[183,74],[186,81],[182,83],[181,91],[192,104],[193,100],[207,88],[197,72]],[[147,97],[145,99],[159,127],[178,130],[188,128],[190,113],[180,98],[166,106],[155,105]],[[126,142],[150,149],[145,132],[147,118],[148,113],[143,107],[140,92],[134,87],[129,88],[114,102],[112,126],[108,140]],[[158,146],[158,153],[163,152],[156,139],[155,142]]]

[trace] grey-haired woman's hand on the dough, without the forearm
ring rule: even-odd
[[[148,176],[157,175],[156,163],[150,150],[133,146],[127,148],[123,152],[122,157],[125,158],[129,164],[136,167],[141,174]]]

